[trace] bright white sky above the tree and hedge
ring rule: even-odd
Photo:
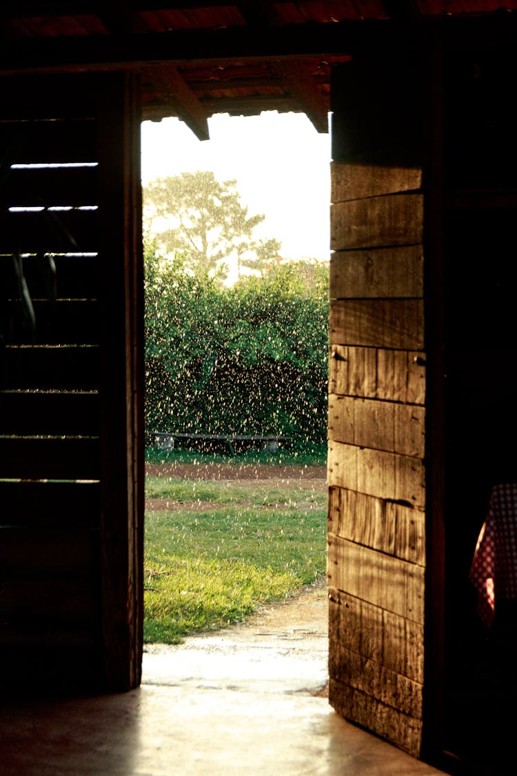
[[[284,258],[329,258],[330,140],[304,113],[209,119],[200,141],[178,119],[142,124],[142,182],[210,170],[236,179],[250,216],[264,213],[257,237],[276,237]]]

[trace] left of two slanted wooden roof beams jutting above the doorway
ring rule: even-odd
[[[179,118],[192,130],[198,140],[209,140],[209,123],[205,107],[176,68],[153,68],[150,73],[153,85],[164,98],[172,104]]]

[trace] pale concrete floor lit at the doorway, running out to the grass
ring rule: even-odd
[[[322,608],[324,607],[324,608]],[[325,616],[318,612],[324,612]],[[0,709],[0,774],[430,776],[325,697],[326,607],[148,647],[139,690]]]

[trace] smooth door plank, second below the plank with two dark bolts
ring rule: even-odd
[[[331,486],[402,501],[419,510],[425,508],[425,468],[421,459],[330,442],[327,471]]]

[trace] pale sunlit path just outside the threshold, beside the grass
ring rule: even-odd
[[[301,693],[328,697],[328,600],[325,581],[219,631],[181,644],[146,644],[144,684],[198,689]]]

